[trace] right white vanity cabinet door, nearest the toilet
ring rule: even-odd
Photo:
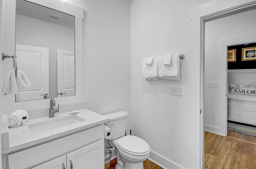
[[[104,169],[104,140],[67,154],[67,169]]]

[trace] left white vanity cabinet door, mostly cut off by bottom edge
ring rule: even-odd
[[[61,157],[33,167],[32,169],[66,169],[66,166],[66,155],[62,155]]]

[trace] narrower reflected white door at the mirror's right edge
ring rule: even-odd
[[[74,51],[58,49],[58,97],[75,95]]]

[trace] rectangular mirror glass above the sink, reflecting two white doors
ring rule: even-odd
[[[15,27],[18,69],[31,83],[16,102],[76,95],[75,17],[16,0]]]

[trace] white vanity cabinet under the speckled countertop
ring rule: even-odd
[[[6,157],[4,169],[104,169],[104,126],[6,154]]]

